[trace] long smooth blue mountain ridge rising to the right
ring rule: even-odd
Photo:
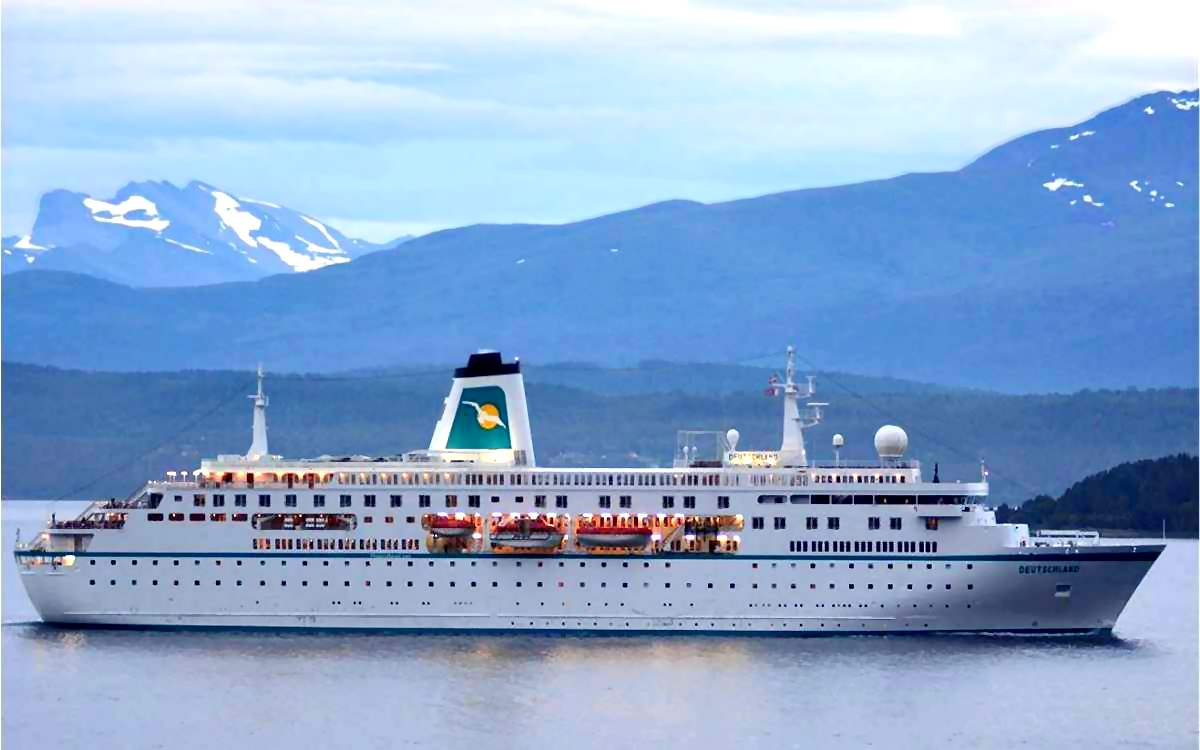
[[[329,371],[480,346],[740,362],[794,342],[815,368],[1002,391],[1192,385],[1196,102],[1141,96],[955,172],[463,227],[248,284],[14,274],[5,356]]]

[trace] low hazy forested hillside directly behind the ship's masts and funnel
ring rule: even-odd
[[[589,390],[562,385],[566,366],[529,372],[534,445],[541,464],[665,466],[680,428],[742,432],[746,449],[776,449],[780,404],[762,395],[762,372],[744,390],[726,367],[588,367]],[[551,383],[539,382],[542,378]],[[662,389],[655,389],[655,384]],[[713,388],[706,389],[704,384]],[[270,376],[271,451],[394,455],[428,445],[449,370],[376,376]],[[810,455],[874,456],[880,425],[908,431],[910,452],[941,464],[943,480],[971,481],[979,460],[992,497],[1055,494],[1080,476],[1124,461],[1192,451],[1195,389],[1006,396],[874,378],[817,380],[827,420],[806,436]],[[632,392],[631,389],[644,389]],[[125,494],[167,469],[196,468],[250,445],[250,372],[95,373],[4,366],[4,497]],[[889,392],[896,391],[896,392]],[[702,395],[708,392],[708,395]]]

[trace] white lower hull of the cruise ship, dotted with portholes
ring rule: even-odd
[[[100,556],[96,565],[79,557],[56,572],[41,566],[23,572],[23,581],[43,620],[79,625],[1082,632],[1114,626],[1160,550],[1097,547],[1070,562],[1046,560],[1044,554],[978,562],[418,554],[307,559],[308,565],[284,556],[181,557],[175,566],[172,556]],[[409,568],[409,562],[415,564]],[[629,568],[622,565],[626,562]],[[647,562],[650,566],[643,568]],[[1070,572],[1026,572],[1038,566]],[[1056,590],[1063,581],[1072,587],[1069,596]]]

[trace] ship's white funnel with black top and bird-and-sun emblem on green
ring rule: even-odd
[[[454,371],[430,450],[463,458],[534,466],[533,434],[521,362],[499,352],[478,352]]]

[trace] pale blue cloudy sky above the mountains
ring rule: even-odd
[[[1200,4],[5,0],[0,223],[198,179],[352,236],[955,169],[1196,86]]]

